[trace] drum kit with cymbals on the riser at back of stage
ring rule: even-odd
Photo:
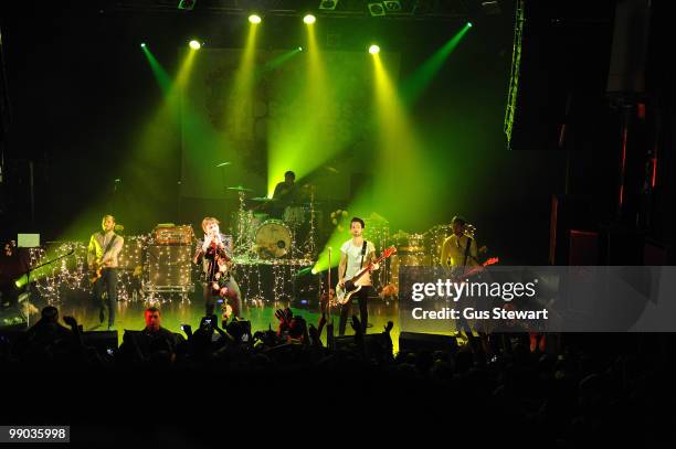
[[[240,207],[232,214],[235,257],[275,260],[315,255],[317,214],[311,185],[304,186],[303,195],[298,195],[307,201],[284,205],[267,196],[247,197],[253,189],[244,185],[226,189],[240,199]]]

